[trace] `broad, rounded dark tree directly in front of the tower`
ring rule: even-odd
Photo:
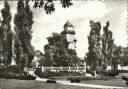
[[[68,49],[65,36],[53,33],[47,39],[48,44],[44,46],[45,66],[75,66],[78,57],[75,50]]]

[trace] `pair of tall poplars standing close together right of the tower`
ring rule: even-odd
[[[112,65],[113,68],[116,67],[117,59],[119,59],[117,51],[119,50],[113,51],[114,39],[112,32],[108,29],[109,21],[103,27],[103,36],[100,33],[100,22],[90,21],[90,24],[92,29],[88,36],[89,52],[86,54],[87,65],[92,67],[91,70],[97,71],[106,70],[108,65]]]

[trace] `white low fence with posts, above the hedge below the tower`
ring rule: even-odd
[[[52,71],[52,72],[57,72],[57,71],[75,71],[75,72],[86,72],[86,66],[84,67],[79,67],[79,66],[76,66],[76,67],[41,67],[42,68],[42,72],[44,71]]]

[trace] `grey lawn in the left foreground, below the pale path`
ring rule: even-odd
[[[88,88],[80,87],[80,86],[63,85],[63,84],[49,84],[36,80],[0,79],[0,89],[88,89]]]

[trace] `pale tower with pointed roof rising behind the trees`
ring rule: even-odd
[[[74,26],[69,21],[67,21],[64,24],[64,31],[62,32],[62,34],[66,37],[69,43],[68,48],[75,49],[76,39],[75,39]]]

